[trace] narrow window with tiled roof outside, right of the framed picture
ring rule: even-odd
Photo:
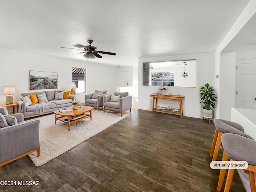
[[[86,68],[72,68],[72,83],[76,85],[76,93],[85,93]]]

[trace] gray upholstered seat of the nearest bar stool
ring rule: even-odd
[[[228,158],[256,165],[256,141],[232,133],[223,134],[222,146]]]

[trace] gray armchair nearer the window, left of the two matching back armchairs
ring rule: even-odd
[[[102,95],[98,95],[97,98],[92,98],[93,93],[92,94],[85,94],[85,106],[90,106],[90,107],[94,107],[97,108],[99,110],[99,108],[103,108],[103,96],[108,95],[107,91],[100,91],[100,90],[95,90],[96,93],[98,92],[103,92]]]

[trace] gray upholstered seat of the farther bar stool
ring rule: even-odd
[[[230,122],[222,119],[214,119],[213,123],[218,132],[233,133],[246,137],[246,135],[244,134],[244,128],[235,122]]]

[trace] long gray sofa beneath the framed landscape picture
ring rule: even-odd
[[[75,100],[74,95],[69,95],[68,99],[57,98],[56,93],[60,93],[58,90],[53,91],[42,91],[35,92],[36,95],[45,94],[47,100],[44,102],[39,102],[37,104],[30,104],[24,102],[22,99],[17,101],[19,104],[18,111],[24,114],[24,118],[39,116],[42,114],[52,113],[54,110],[62,109],[65,107],[72,106],[72,101]],[[28,95],[33,93],[22,93],[22,97],[27,97]]]

